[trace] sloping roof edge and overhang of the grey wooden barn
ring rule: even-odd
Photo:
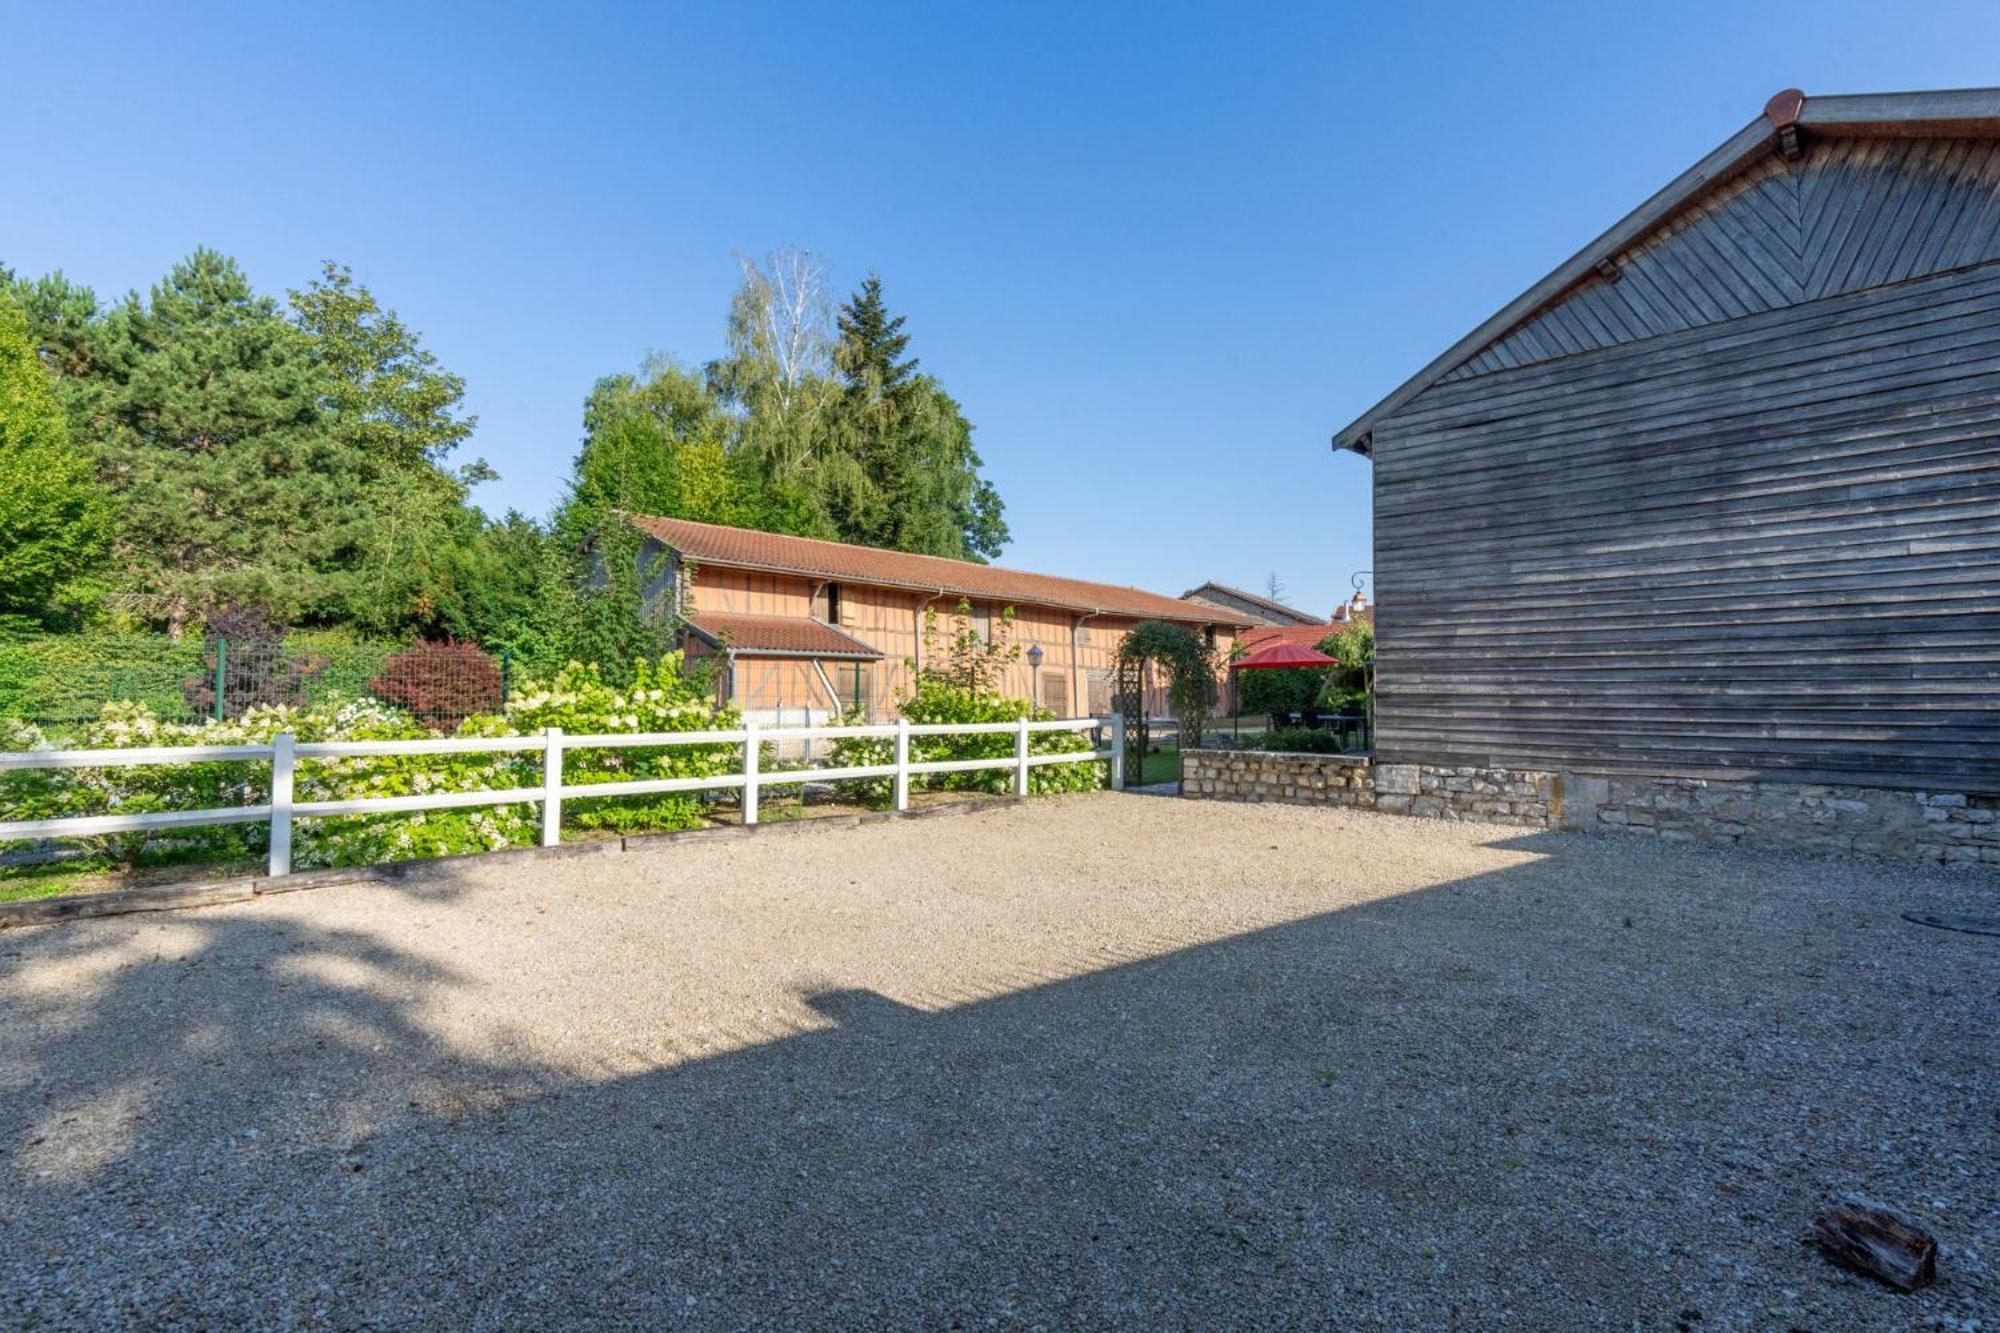
[[[1468,356],[1522,320],[1538,314],[1568,294],[1578,282],[1602,274],[1600,266],[1628,244],[1688,208],[1702,194],[1770,152],[1794,156],[1800,136],[1824,138],[1896,138],[1896,136],[2000,136],[2000,88],[1960,88],[1948,92],[1864,92],[1848,96],[1812,96],[1786,88],[1764,104],[1764,114],[1726,138],[1706,158],[1670,180],[1666,188],[1614,222],[1556,266],[1546,278],[1502,306],[1492,318],[1468,332],[1402,382],[1390,396],[1374,404],[1346,428],[1334,434],[1336,450],[1362,456],[1374,452],[1374,426],[1420,392],[1450,374]]]

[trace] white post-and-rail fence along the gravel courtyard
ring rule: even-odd
[[[1030,755],[1028,739],[1040,731],[1090,731],[1108,727],[1110,747]],[[982,737],[1012,735],[1014,753],[1000,759],[934,759],[910,761],[912,737]],[[762,773],[760,747],[766,741],[844,741],[892,739],[894,759],[886,765],[850,765],[846,769],[780,769]],[[606,751],[674,745],[740,745],[742,769],[712,777],[634,779],[628,783],[564,783],[562,755],[566,751]],[[542,755],[540,787],[504,787],[490,791],[426,793],[418,797],[368,797],[360,801],[294,801],[294,775],[302,759],[354,759],[394,755]],[[646,797],[672,791],[736,791],[742,789],[742,819],[758,821],[758,795],[766,787],[798,787],[802,783],[840,783],[852,779],[894,779],[898,811],[910,809],[910,777],[926,773],[974,773],[982,769],[1012,769],[1014,795],[1028,795],[1028,771],[1040,765],[1100,763],[1112,765],[1112,787],[1124,787],[1124,719],[1060,719],[1052,723],[942,723],[912,725],[896,721],[870,727],[758,727],[746,723],[734,731],[664,731],[618,733],[604,737],[566,737],[550,727],[538,737],[450,737],[440,741],[296,741],[290,733],[270,745],[184,745],[130,751],[6,751],[0,753],[0,773],[18,769],[142,769],[152,765],[206,763],[270,763],[270,805],[238,805],[214,811],[154,811],[146,815],[76,815],[62,819],[0,821],[0,843],[22,839],[74,839],[106,833],[138,833],[144,829],[194,829],[208,825],[270,825],[270,873],[292,873],[292,821],[330,815],[400,815],[410,811],[456,811],[480,805],[542,807],[542,847],[562,841],[562,803],[578,797]]]

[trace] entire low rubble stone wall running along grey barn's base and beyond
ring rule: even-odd
[[[1182,795],[2000,865],[2000,797],[1802,783],[1372,765],[1350,755],[1184,751]]]

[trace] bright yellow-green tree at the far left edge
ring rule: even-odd
[[[28,320],[0,290],[0,616],[82,608],[110,534],[110,504],[70,446]]]

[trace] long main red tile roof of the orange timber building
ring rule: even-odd
[[[1030,574],[998,564],[948,560],[906,550],[822,542],[810,536],[782,536],[752,528],[726,528],[690,518],[650,518],[634,514],[632,522],[696,564],[728,564],[732,568],[764,568],[806,578],[846,578],[854,582],[942,592],[1018,606],[1058,606],[1062,610],[1108,612],[1180,620],[1182,624],[1250,624],[1248,616],[1184,602],[1178,596],[1124,588],[1110,582]]]

